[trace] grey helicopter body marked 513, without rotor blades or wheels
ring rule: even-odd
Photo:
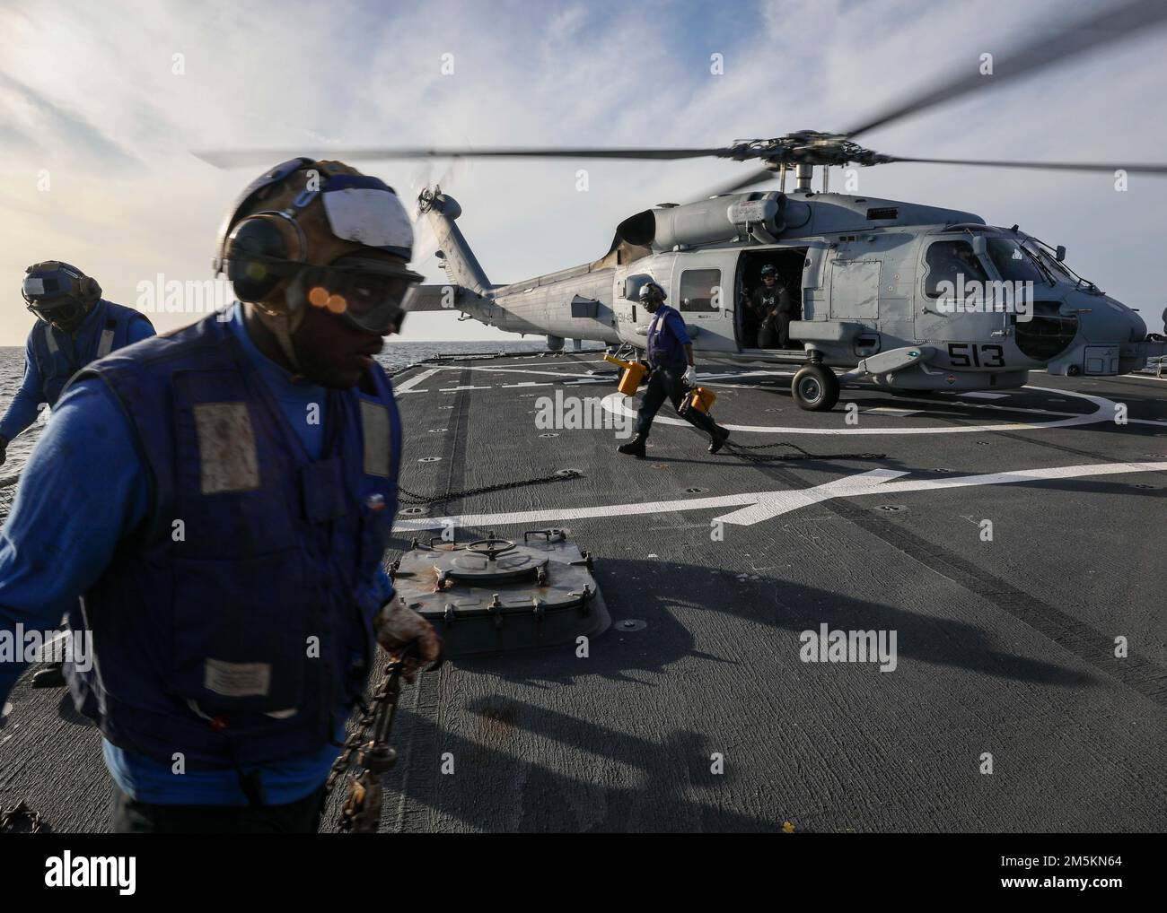
[[[443,252],[452,280],[459,255]],[[1016,387],[1036,368],[1118,374],[1163,353],[1145,342],[1138,314],[1061,257],[970,212],[839,194],[734,194],[637,213],[600,260],[483,288],[456,307],[502,330],[546,335],[552,347],[568,338],[643,347],[651,316],[637,299],[652,280],[698,353],[818,361],[903,389]],[[781,350],[757,346],[747,305],[763,264],[778,268],[798,303]]]

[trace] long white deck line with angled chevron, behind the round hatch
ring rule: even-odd
[[[791,511],[797,511],[799,507],[830,500],[831,498],[858,498],[866,494],[900,494],[910,491],[964,489],[976,485],[1009,485],[1026,482],[1047,482],[1050,479],[1113,476],[1133,472],[1167,472],[1167,461],[1158,463],[1085,463],[1075,466],[1020,469],[1012,472],[991,472],[983,476],[944,476],[941,478],[904,479],[903,482],[893,482],[892,479],[907,476],[907,472],[892,469],[874,469],[809,489],[756,491],[741,494],[721,494],[712,498],[684,498],[671,501],[608,504],[595,507],[552,507],[543,511],[425,517],[398,520],[393,528],[396,532],[407,532],[440,529],[446,524],[453,524],[457,527],[534,525],[595,517],[630,517],[647,513],[669,513],[671,511],[720,510],[722,507],[739,507],[741,510],[721,514],[714,519],[727,524],[748,526],[790,513]]]

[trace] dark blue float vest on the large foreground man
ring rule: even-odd
[[[319,751],[364,688],[397,513],[400,419],[378,365],[328,391],[323,458],[211,315],[114,352],[151,506],[84,594],[74,700],[127,751],[188,770]]]

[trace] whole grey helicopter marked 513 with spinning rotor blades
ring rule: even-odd
[[[993,85],[1068,57],[1144,34],[1167,21],[1161,0],[1107,7],[999,58]],[[834,407],[844,384],[862,380],[894,394],[1023,386],[1028,372],[1116,375],[1167,353],[1135,310],[1065,262],[1065,250],[972,212],[830,192],[831,167],[892,163],[984,166],[1167,175],[1161,163],[922,159],[885,155],[855,138],[985,87],[962,73],[838,133],[798,131],[713,148],[408,148],[329,150],[345,160],[560,157],[756,161],[760,168],[682,204],[623,219],[596,260],[522,282],[494,285],[456,220],[461,205],[441,187],[418,196],[418,218],[438,243],[448,280],[422,286],[411,311],[457,310],[461,319],[517,333],[644,349],[648,282],[665,289],[697,352],[728,360],[796,366],[791,394],[808,410]],[[233,167],[282,153],[196,153]],[[268,157],[271,156],[271,157]],[[285,156],[287,157],[287,156]],[[822,185],[812,189],[815,168]],[[788,173],[795,185],[787,191]],[[777,180],[776,190],[749,190]],[[784,349],[756,345],[747,296],[763,266],[776,268],[795,304]],[[797,345],[795,344],[797,342]],[[834,368],[840,368],[837,374]]]

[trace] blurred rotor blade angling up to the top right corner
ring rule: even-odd
[[[1037,41],[999,56],[993,63],[993,76],[986,78],[979,71],[971,76],[962,72],[938,89],[909,97],[855,125],[846,135],[858,136],[978,89],[998,86],[1105,44],[1137,37],[1163,20],[1167,20],[1167,3],[1162,0],[1133,0],[1124,6],[1107,6],[1063,28],[1042,28],[1042,37]]]

